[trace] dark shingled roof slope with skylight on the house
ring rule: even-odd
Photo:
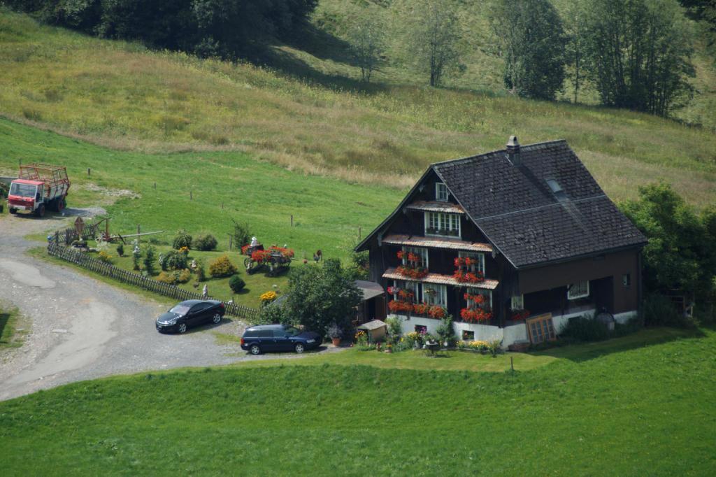
[[[566,141],[525,145],[433,165],[470,218],[514,266],[598,254],[646,242]],[[546,180],[566,195],[560,201]]]

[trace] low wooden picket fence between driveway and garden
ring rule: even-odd
[[[49,241],[49,244],[47,245],[47,253],[52,256],[56,256],[59,259],[69,261],[72,264],[79,265],[89,271],[94,271],[97,274],[109,276],[112,279],[122,281],[123,283],[130,284],[132,286],[139,286],[142,289],[153,291],[154,293],[164,295],[165,297],[170,297],[180,301],[207,299],[207,297],[204,297],[203,294],[188,291],[172,284],[163,283],[162,281],[151,279],[148,276],[136,274],[133,271],[120,269],[119,267],[108,264],[107,262],[92,258],[88,254],[84,254],[81,251],[72,250],[68,247],[62,246],[59,244],[58,235],[55,236],[54,240]],[[211,297],[208,298],[212,299]],[[224,304],[224,307],[226,307],[226,314],[246,319],[248,322],[256,322],[259,314],[258,309],[244,307],[243,305],[236,303],[221,302]]]

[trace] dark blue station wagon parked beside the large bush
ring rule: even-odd
[[[241,337],[241,349],[259,355],[267,351],[295,351],[302,353],[321,344],[321,336],[314,332],[301,332],[283,324],[262,324],[246,328]]]

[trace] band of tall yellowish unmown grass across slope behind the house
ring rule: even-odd
[[[309,49],[302,54],[315,58]],[[286,58],[300,60],[291,52]],[[325,82],[334,77],[320,72],[322,59],[303,64]],[[492,93],[397,85],[342,92],[244,64],[38,26],[2,9],[0,113],[115,149],[241,151],[397,188],[410,186],[428,163],[500,148],[511,134],[523,143],[565,138],[614,199],[664,179],[692,203],[716,201],[712,131]]]

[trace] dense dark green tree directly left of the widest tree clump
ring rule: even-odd
[[[566,36],[548,0],[497,0],[490,22],[505,59],[505,86],[523,97],[553,100],[564,82]]]

